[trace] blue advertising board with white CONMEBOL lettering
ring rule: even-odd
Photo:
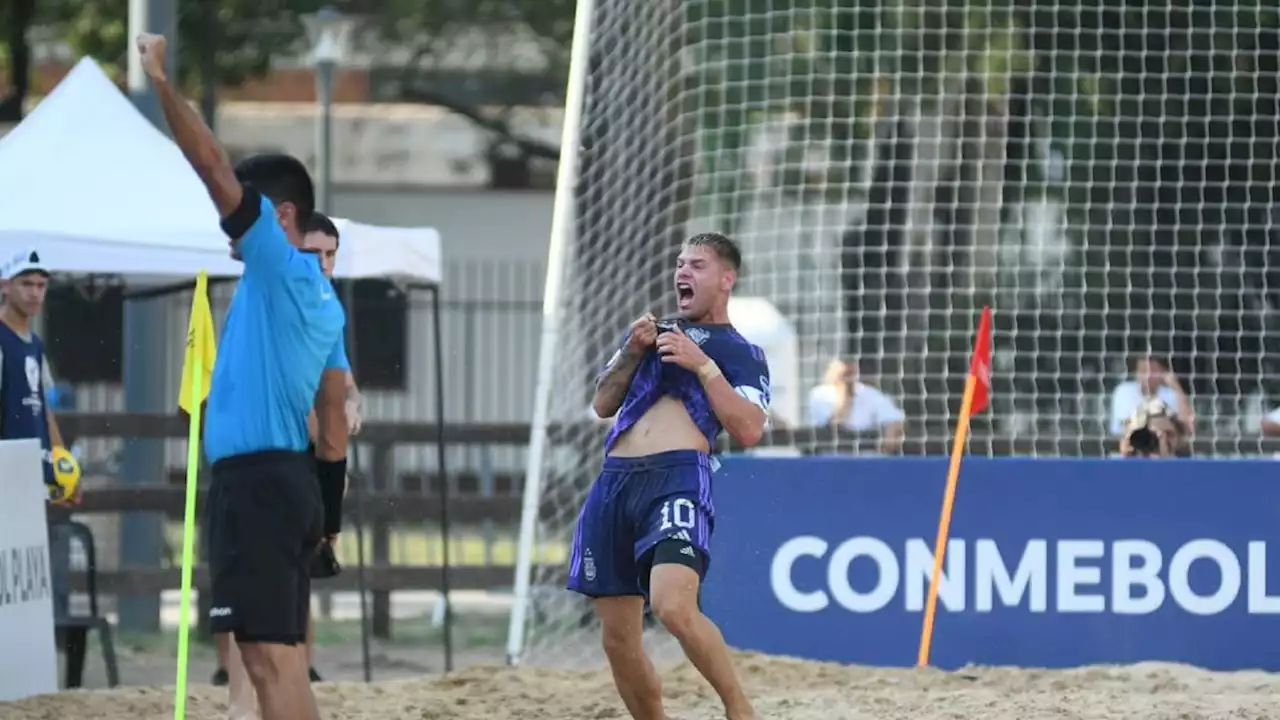
[[[735,647],[914,664],[946,470],[726,457],[704,609]],[[1275,461],[966,459],[932,664],[1280,670],[1277,529]]]

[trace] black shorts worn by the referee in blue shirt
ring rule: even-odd
[[[324,532],[315,461],[266,451],[214,462],[209,624],[237,642],[298,644],[311,609],[311,559]]]

